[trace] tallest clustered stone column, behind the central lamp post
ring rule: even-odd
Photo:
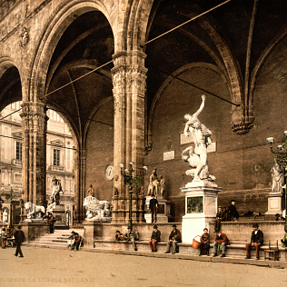
[[[124,178],[119,168],[120,163],[129,168],[134,162],[134,174],[143,175],[144,155],[144,101],[147,69],[144,67],[146,54],[139,51],[119,52],[113,55],[112,69],[114,84],[114,187],[119,193],[117,222],[128,222],[129,194],[124,186]],[[134,186],[133,219],[138,221],[138,193]],[[124,212],[123,212],[124,210]],[[115,210],[114,210],[115,211]],[[141,210],[142,213],[142,210]]]

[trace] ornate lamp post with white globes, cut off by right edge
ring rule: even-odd
[[[282,143],[277,146],[277,152],[273,152],[272,143],[275,142],[275,139],[273,137],[268,137],[266,139],[267,143],[270,143],[270,150],[272,153],[276,154],[275,161],[276,163],[282,165],[285,171],[287,171],[287,149],[284,150],[284,148],[287,148],[287,131],[283,132],[284,136],[286,136],[286,142]],[[284,174],[285,178],[287,177],[287,173]],[[284,231],[285,235],[282,239],[282,247],[287,247],[287,216],[286,216],[286,207],[287,207],[287,193],[286,193],[286,183],[285,183],[285,226]]]

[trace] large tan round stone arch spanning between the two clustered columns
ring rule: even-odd
[[[98,10],[104,14],[107,21],[111,23],[109,13],[106,7],[100,3],[94,3],[93,1],[86,1],[78,3],[78,1],[71,1],[68,5],[65,5],[57,15],[54,15],[52,21],[46,26],[44,34],[39,40],[39,48],[35,54],[34,66],[32,70],[32,79],[35,79],[34,86],[31,86],[32,91],[36,91],[33,95],[34,101],[37,100],[39,94],[45,93],[45,81],[48,71],[47,59],[50,60],[54,48],[58,44],[59,39],[63,35],[65,29],[74,20],[74,13],[83,15],[86,12]],[[112,31],[113,31],[113,26]]]

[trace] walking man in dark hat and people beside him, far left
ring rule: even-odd
[[[25,242],[25,234],[21,230],[21,225],[17,226],[17,230],[14,231],[14,228],[10,228],[9,226],[5,229],[5,227],[2,228],[1,231],[1,245],[2,248],[6,248],[8,246],[9,239],[12,239],[15,241],[16,245],[16,251],[15,256],[20,255],[20,257],[24,257],[22,250],[21,250],[21,244],[22,242]],[[11,246],[14,246],[13,244]]]

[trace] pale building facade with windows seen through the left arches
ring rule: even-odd
[[[20,199],[24,190],[22,188],[22,119],[21,102],[9,104],[1,111],[0,120],[0,170],[1,170],[1,193],[10,193],[17,198],[13,200],[13,223],[20,220]],[[64,123],[62,117],[49,109],[47,111],[49,121],[47,123],[47,160],[46,160],[46,203],[52,193],[52,178],[55,176],[61,183],[64,193],[61,193],[61,204],[66,207],[69,203],[71,208],[74,204],[74,142],[70,128]],[[2,214],[7,213],[10,221],[10,202],[2,195]]]

